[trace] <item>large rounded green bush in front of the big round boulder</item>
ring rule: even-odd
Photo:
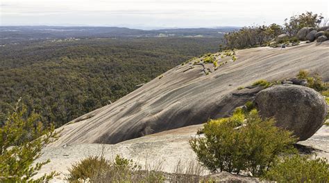
[[[205,137],[192,138],[189,144],[199,162],[212,172],[250,171],[253,176],[263,175],[278,155],[291,152],[296,142],[292,133],[274,123],[273,119],[262,120],[255,109],[244,115],[240,108],[232,117],[205,124]]]

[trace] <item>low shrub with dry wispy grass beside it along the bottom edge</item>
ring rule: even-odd
[[[171,173],[163,171],[162,162],[149,164],[144,168],[133,160],[117,155],[109,161],[104,157],[106,150],[102,146],[101,155],[89,156],[72,164],[67,180],[69,182],[213,182],[204,176],[206,168],[196,160],[178,160]]]

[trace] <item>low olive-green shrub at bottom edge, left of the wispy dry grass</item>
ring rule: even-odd
[[[164,175],[155,171],[142,171],[133,160],[117,155],[114,162],[103,156],[90,156],[69,169],[70,182],[89,179],[91,182],[163,182]]]

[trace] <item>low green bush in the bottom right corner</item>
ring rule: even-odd
[[[310,160],[308,156],[285,157],[264,175],[277,182],[329,182],[329,164],[325,158]]]

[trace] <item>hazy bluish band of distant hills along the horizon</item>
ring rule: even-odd
[[[19,41],[67,38],[110,37],[214,37],[237,30],[236,27],[176,28],[162,30],[139,30],[118,27],[62,27],[62,26],[0,26],[0,45]]]

